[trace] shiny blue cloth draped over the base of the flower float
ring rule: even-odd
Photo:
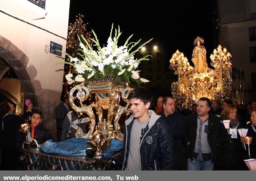
[[[89,148],[87,140],[91,141],[91,139],[81,138],[71,138],[70,140],[64,140],[61,142],[52,142],[52,140],[48,140],[42,144],[39,144],[39,146],[45,153],[54,153],[69,156],[86,156],[86,148]],[[108,149],[104,150],[103,158],[109,158],[112,153],[122,149],[122,147],[122,141],[112,140],[111,145],[108,147]]]

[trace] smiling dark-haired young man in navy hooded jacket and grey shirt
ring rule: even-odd
[[[172,136],[163,118],[148,110],[152,93],[140,87],[128,99],[132,116],[125,121],[122,170],[172,170]]]

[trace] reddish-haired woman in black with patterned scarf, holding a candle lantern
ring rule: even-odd
[[[222,145],[220,158],[222,170],[240,170],[242,163],[242,144],[237,129],[243,128],[240,118],[237,117],[237,109],[234,105],[228,104],[221,112],[221,121],[229,120],[230,141]],[[232,129],[232,130],[231,130]]]

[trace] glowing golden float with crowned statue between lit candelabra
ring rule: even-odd
[[[204,39],[196,37],[192,54],[192,67],[187,57],[178,49],[170,60],[170,69],[178,75],[178,81],[172,83],[172,96],[183,108],[191,108],[201,97],[210,100],[230,100],[232,97],[231,54],[226,48],[218,46],[210,59],[214,69],[208,67]]]

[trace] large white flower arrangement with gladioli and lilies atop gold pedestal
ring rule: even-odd
[[[131,80],[135,80],[138,84],[140,84],[140,82],[149,82],[147,79],[140,78],[140,71],[135,71],[135,69],[142,60],[149,60],[147,57],[150,55],[140,59],[134,59],[134,54],[152,39],[142,44],[138,49],[132,51],[132,48],[134,48],[141,39],[137,42],[128,43],[132,37],[131,35],[125,41],[123,46],[118,47],[117,42],[122,32],[120,32],[118,26],[118,30],[115,29],[115,36],[112,38],[112,30],[113,24],[107,41],[107,46],[103,48],[100,47],[99,40],[92,30],[95,40],[92,38],[91,40],[95,43],[93,46],[97,47],[96,51],[92,49],[90,43],[83,36],[82,38],[85,41],[86,46],[81,42],[80,37],[78,37],[81,49],[78,49],[80,53],[77,54],[81,59],[66,54],[70,58],[70,62],[57,63],[70,64],[75,68],[75,73],[77,74],[75,80],[72,73],[65,76],[68,80],[68,84],[72,84],[74,81],[87,83],[88,79],[98,79],[102,76],[112,76],[113,83],[119,83],[121,81],[129,83]]]

